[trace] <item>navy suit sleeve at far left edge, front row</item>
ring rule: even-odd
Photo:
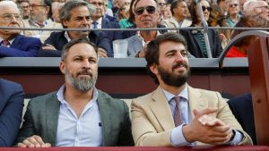
[[[7,100],[4,111],[0,113],[0,147],[13,145],[22,122],[24,92],[21,85],[15,86],[13,95]]]

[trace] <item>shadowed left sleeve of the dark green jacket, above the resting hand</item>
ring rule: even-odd
[[[17,145],[18,143],[21,143],[25,138],[29,138],[32,135],[35,135],[35,130],[34,130],[34,124],[33,124],[33,119],[31,115],[31,100],[27,106],[26,113],[24,114],[23,117],[23,123],[22,123],[22,128],[18,134],[18,137],[14,143],[14,145]]]

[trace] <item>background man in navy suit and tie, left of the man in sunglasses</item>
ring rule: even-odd
[[[104,0],[89,0],[89,3],[96,6],[96,11],[91,16],[91,29],[120,29],[117,22],[104,18]],[[106,30],[102,32],[107,34],[111,46],[114,40],[122,39],[122,31]]]

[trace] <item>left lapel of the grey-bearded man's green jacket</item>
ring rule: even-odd
[[[46,122],[47,122],[47,134],[48,142],[51,143],[52,146],[56,144],[56,131],[58,124],[58,115],[60,110],[60,103],[56,97],[56,93],[51,96],[46,105]]]

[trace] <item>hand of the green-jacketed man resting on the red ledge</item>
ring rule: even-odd
[[[26,138],[22,143],[18,143],[18,147],[51,147],[49,143],[44,143],[42,138],[33,135],[30,138]]]

